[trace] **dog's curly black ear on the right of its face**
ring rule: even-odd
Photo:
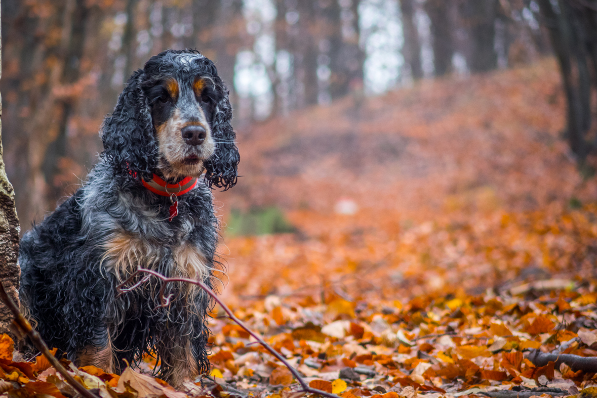
[[[219,80],[219,79],[217,79]],[[211,132],[216,144],[216,151],[205,162],[205,183],[211,187],[224,188],[224,191],[236,185],[237,167],[240,161],[236,148],[236,133],[232,129],[232,106],[224,83],[218,82],[221,99],[216,105],[211,122]]]

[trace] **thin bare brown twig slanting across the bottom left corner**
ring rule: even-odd
[[[83,397],[98,398],[96,395],[91,393],[91,391],[87,390],[87,388],[85,388],[81,383],[76,381],[75,378],[73,378],[69,374],[69,372],[66,371],[64,366],[62,366],[60,362],[58,362],[56,357],[52,355],[52,353],[48,349],[48,346],[45,344],[44,340],[42,340],[39,333],[31,327],[29,321],[27,321],[23,314],[21,314],[19,307],[17,307],[13,299],[10,298],[10,296],[8,296],[6,290],[4,290],[4,285],[2,285],[2,283],[0,283],[0,299],[2,299],[4,304],[6,304],[8,309],[10,309],[13,313],[14,324],[17,325],[17,327],[19,327],[19,329],[21,329],[21,331],[23,331],[29,337],[29,339],[35,345],[35,347],[39,351],[41,351],[42,354],[44,354],[44,356],[48,359],[48,361],[50,361],[52,366],[54,366],[54,368],[62,375],[62,377],[64,377],[64,379],[66,379],[66,381],[68,381],[69,384],[72,385],[72,387],[75,388],[75,390]]]

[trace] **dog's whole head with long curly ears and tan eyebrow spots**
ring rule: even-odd
[[[205,171],[209,186],[228,189],[239,162],[231,119],[213,62],[198,51],[164,51],[133,73],[104,120],[104,157],[137,178],[158,173],[176,180]]]

